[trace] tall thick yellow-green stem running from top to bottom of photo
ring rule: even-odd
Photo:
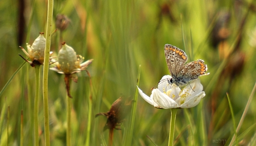
[[[48,68],[51,47],[51,28],[53,15],[53,0],[48,0],[45,62],[43,63],[43,116],[45,117],[45,145],[50,145],[49,109],[48,109]]]

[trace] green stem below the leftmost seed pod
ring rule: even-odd
[[[36,71],[36,93],[35,93],[35,102],[34,102],[34,134],[35,142],[34,145],[39,145],[39,132],[38,132],[38,98],[39,98],[39,89],[40,89],[40,66],[35,66]]]

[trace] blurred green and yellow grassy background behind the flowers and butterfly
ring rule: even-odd
[[[24,62],[24,53],[39,32],[46,31],[47,1],[0,2],[0,89]],[[147,95],[165,74],[169,74],[164,45],[183,49],[188,61],[203,59],[209,75],[200,77],[206,96],[191,109],[178,110],[176,145],[224,145],[233,137],[233,123],[226,93],[229,93],[238,124],[256,77],[256,3],[250,1],[55,1],[53,17],[65,14],[70,19],[65,31],[53,34],[51,51],[57,56],[60,35],[63,41],[87,59],[92,76],[92,125],[87,135],[89,78],[78,73],[72,83],[72,145],[107,143],[103,131],[107,112],[120,96],[134,99],[137,74],[139,87]],[[53,20],[55,22],[55,19]],[[29,26],[31,24],[31,26]],[[53,29],[55,29],[53,23]],[[52,30],[54,31],[54,30]],[[26,49],[27,50],[27,49]],[[41,69],[42,71],[42,69]],[[42,75],[42,73],[41,73]],[[66,89],[64,75],[49,71],[48,95],[51,144],[65,145]],[[0,145],[7,143],[9,105],[9,145],[19,145],[23,110],[24,145],[33,145],[32,115],[35,94],[35,69],[26,63],[0,97]],[[42,93],[42,92],[41,92]],[[255,96],[254,96],[255,97]],[[167,145],[170,110],[156,109],[140,95],[137,102],[132,145]],[[238,136],[240,145],[255,142],[256,100]],[[43,100],[39,105],[40,145],[44,145]],[[130,127],[129,114],[114,130],[114,145],[122,145]],[[236,125],[237,126],[237,125]],[[150,137],[147,138],[146,136]],[[221,140],[217,142],[216,140]]]

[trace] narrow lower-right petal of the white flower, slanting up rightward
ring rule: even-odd
[[[196,105],[199,104],[201,98],[205,97],[205,93],[200,92],[198,95],[195,95],[194,97],[190,98],[189,100],[186,100],[185,103],[181,104],[180,108],[193,108]]]

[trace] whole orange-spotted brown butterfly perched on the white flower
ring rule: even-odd
[[[171,77],[173,77],[168,80],[169,83],[183,86],[201,75],[206,75],[207,66],[203,60],[198,59],[197,61],[186,63],[188,61],[186,53],[171,44],[165,44],[164,50],[166,63]]]

